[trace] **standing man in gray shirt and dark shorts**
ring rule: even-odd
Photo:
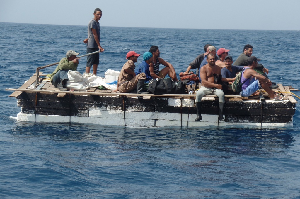
[[[102,17],[102,11],[96,8],[94,11],[94,18],[88,22],[88,38],[83,42],[86,45],[86,53],[92,53],[95,51],[103,52],[104,48],[100,45],[100,25],[99,20]],[[93,74],[97,76],[97,68],[99,64],[99,53],[88,55],[86,58],[85,73],[90,73],[91,66],[93,65]],[[92,74],[92,75],[93,75]]]

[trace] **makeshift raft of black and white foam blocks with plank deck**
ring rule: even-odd
[[[291,86],[279,85],[274,91],[282,92],[282,101],[263,96],[241,97],[225,95],[223,115],[218,121],[218,98],[202,98],[202,120],[195,122],[196,94],[125,94],[90,88],[83,91],[60,91],[51,82],[42,82],[35,88],[35,73],[9,97],[17,99],[21,111],[18,121],[86,123],[155,128],[166,126],[292,126],[297,101],[290,94]],[[39,76],[46,76],[39,73]],[[296,89],[295,89],[296,90]]]

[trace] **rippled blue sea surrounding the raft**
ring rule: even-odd
[[[84,55],[86,37],[86,26],[0,23],[0,198],[300,198],[296,97],[293,126],[285,128],[16,121],[21,108],[5,88],[19,88],[67,50]],[[230,49],[233,59],[251,44],[273,82],[300,88],[300,31],[101,27],[98,76],[152,45],[178,75],[206,43]]]

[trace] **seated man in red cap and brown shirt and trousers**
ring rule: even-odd
[[[137,58],[139,56],[140,54],[134,51],[129,51],[126,54],[126,58],[128,60],[121,69],[119,79],[118,79],[118,84],[117,84],[117,91],[120,91],[121,93],[129,93],[130,91],[134,90],[134,88],[136,87],[137,87],[137,93],[140,93],[142,91],[146,79],[146,74],[140,73],[136,75],[134,72],[134,68],[135,68],[134,63],[137,62]]]

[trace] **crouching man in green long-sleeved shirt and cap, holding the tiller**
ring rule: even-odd
[[[66,57],[62,58],[55,68],[55,71],[49,75],[51,84],[58,88],[60,91],[67,91],[65,87],[66,81],[68,80],[68,71],[77,71],[78,59],[76,53],[73,50],[69,50],[66,53]]]

